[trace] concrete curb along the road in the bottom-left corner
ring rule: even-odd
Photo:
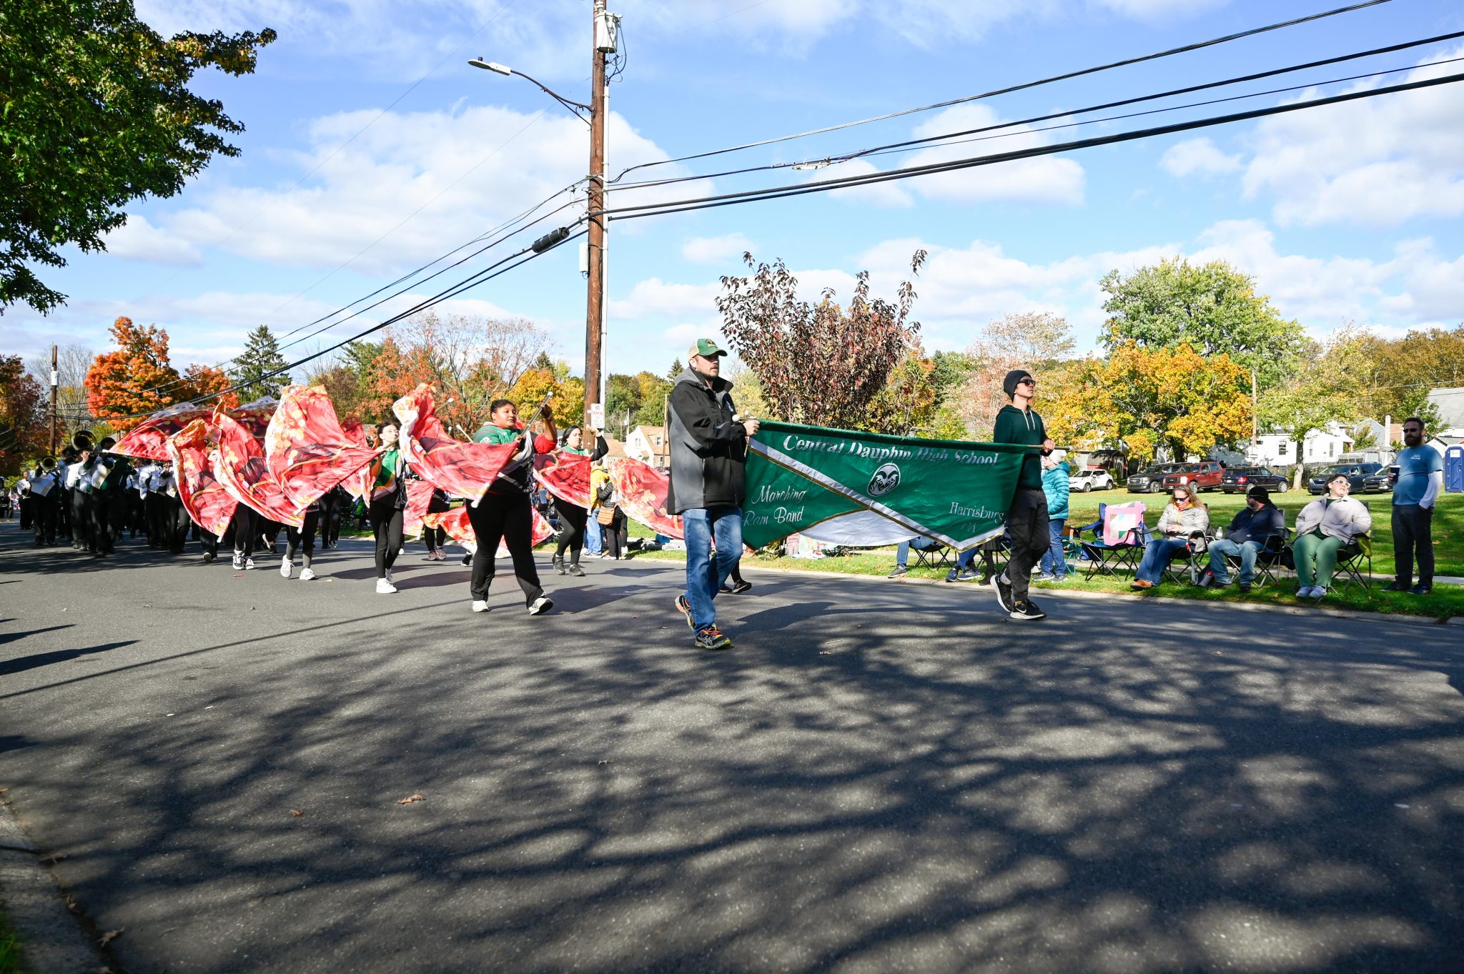
[[[26,970],[37,974],[110,970],[66,908],[56,876],[41,863],[41,851],[4,800],[0,800],[0,905],[15,927]]]

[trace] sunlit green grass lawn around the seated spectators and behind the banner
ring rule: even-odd
[[[1205,503],[1211,509],[1211,519],[1221,525],[1230,524],[1231,516],[1244,506],[1243,494],[1203,494]],[[1143,500],[1149,506],[1148,522],[1152,525],[1158,518],[1164,494],[1127,494],[1117,490],[1095,491],[1091,494],[1073,494],[1070,502],[1072,519],[1069,524],[1086,525],[1098,519],[1099,503],[1126,503],[1129,500]],[[1310,494],[1290,491],[1278,494],[1277,506],[1287,515],[1287,524],[1296,524],[1296,515],[1313,497]],[[1322,605],[1335,608],[1354,608],[1375,613],[1400,613],[1410,616],[1432,616],[1448,619],[1449,616],[1464,616],[1464,586],[1439,585],[1430,595],[1408,595],[1382,592],[1379,588],[1392,578],[1392,531],[1389,529],[1388,494],[1364,494],[1360,497],[1373,512],[1373,575],[1375,582],[1370,589],[1353,586],[1347,591],[1334,592],[1322,600]],[[640,528],[637,531],[637,528]],[[651,532],[637,524],[631,524],[631,537],[650,537]],[[1464,494],[1445,494],[1439,500],[1439,507],[1433,518],[1433,548],[1438,560],[1439,575],[1464,575],[1464,553],[1461,553],[1461,538],[1464,538]],[[682,560],[681,551],[650,551],[637,557]],[[914,563],[914,557],[911,559]],[[895,567],[895,547],[856,550],[851,554],[824,559],[788,559],[757,556],[745,563],[758,567],[798,569],[808,572],[836,572],[848,575],[889,575]],[[944,569],[911,567],[906,578],[943,579]],[[1224,589],[1205,589],[1193,585],[1164,584],[1151,592],[1133,592],[1129,589],[1132,576],[1094,578],[1083,581],[1082,572],[1069,573],[1069,581],[1061,585],[1037,584],[1035,589],[1066,588],[1092,592],[1121,592],[1132,598],[1176,597],[1198,598],[1203,601],[1250,601],[1278,605],[1313,605],[1312,600],[1296,597],[1296,582],[1282,576],[1277,585],[1252,589],[1241,595],[1234,585]],[[892,582],[893,584],[893,582]],[[957,582],[972,585],[972,582]]]

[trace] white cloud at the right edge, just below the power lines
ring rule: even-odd
[[[1407,79],[1454,70],[1420,67]],[[1247,199],[1272,195],[1281,225],[1385,227],[1464,214],[1464,99],[1452,85],[1275,116],[1256,127],[1255,146],[1244,192]]]

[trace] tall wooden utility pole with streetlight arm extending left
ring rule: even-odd
[[[514,70],[508,64],[488,61],[474,57],[468,61],[473,67],[493,72],[496,75],[518,75],[524,80],[536,85],[546,95],[572,111],[590,126],[590,178],[586,192],[587,241],[586,253],[589,263],[587,295],[584,303],[584,421],[590,423],[590,407],[605,402],[605,370],[600,367],[600,352],[605,342],[605,117],[609,111],[609,86],[605,83],[605,56],[616,50],[616,35],[619,34],[619,16],[606,12],[605,0],[594,0],[593,13],[593,51],[590,72],[590,104],[565,98],[546,85],[534,80],[529,75]],[[581,113],[589,113],[586,118]],[[552,246],[549,234],[540,241]],[[534,249],[539,249],[536,241]]]

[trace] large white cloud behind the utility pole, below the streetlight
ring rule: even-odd
[[[300,173],[319,167],[303,184],[201,189],[203,203],[161,218],[165,230],[271,263],[335,268],[350,260],[363,273],[389,273],[483,234],[584,173],[586,127],[572,117],[496,107],[376,116],[316,118],[309,151],[294,158]],[[618,167],[666,158],[613,113],[608,155]],[[675,165],[660,171],[684,173]],[[697,196],[709,187],[698,180],[618,190],[615,205]],[[553,206],[561,203],[569,206],[526,233],[526,243],[574,222],[583,192],[562,195]]]

